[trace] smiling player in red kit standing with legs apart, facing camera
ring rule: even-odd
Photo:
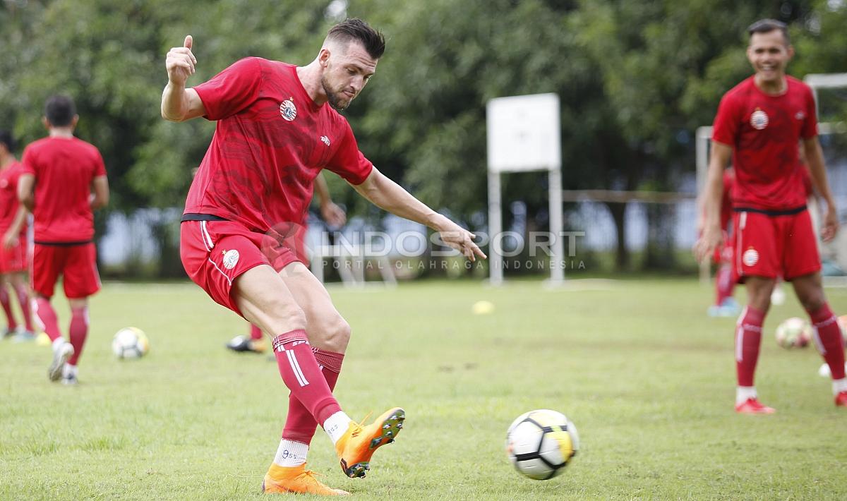
[[[817,349],[833,377],[835,405],[847,405],[844,342],[821,283],[821,258],[806,210],[800,144],[811,180],[825,203],[821,237],[833,239],[838,217],[817,140],[817,113],[811,89],[785,74],[794,55],[783,23],[763,19],[750,25],[747,58],[755,74],[736,85],[717,109],[706,181],[706,227],[695,245],[702,260],[721,243],[721,173],[732,157],[735,184],[734,267],[747,288],[748,303],[735,330],[738,387],[735,410],[771,414],[759,402],[753,375],[761,326],[778,277],[791,282],[814,326]]]

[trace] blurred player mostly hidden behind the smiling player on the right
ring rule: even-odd
[[[733,276],[733,245],[729,239],[732,234],[733,202],[729,199],[735,181],[735,171],[727,168],[723,171],[723,195],[721,198],[721,228],[724,245],[718,246],[712,256],[717,265],[715,273],[715,304],[709,306],[709,317],[734,317],[739,313],[738,303],[733,298],[735,277]]]

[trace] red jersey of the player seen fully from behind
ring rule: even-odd
[[[75,137],[46,137],[26,146],[22,161],[23,173],[36,177],[36,243],[91,241],[91,181],[106,175],[97,147]]]

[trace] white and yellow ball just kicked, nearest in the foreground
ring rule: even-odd
[[[577,428],[561,412],[531,410],[506,432],[506,453],[515,469],[534,480],[556,476],[579,449]]]

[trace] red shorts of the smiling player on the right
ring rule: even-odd
[[[817,237],[809,211],[790,215],[735,212],[734,270],[746,277],[793,278],[821,269]]]

